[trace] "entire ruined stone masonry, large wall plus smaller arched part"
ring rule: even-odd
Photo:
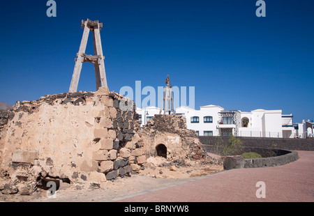
[[[142,130],[138,117],[133,100],[107,87],[16,102],[0,111],[1,193],[31,194],[49,181],[98,186],[156,156],[213,163],[182,116],[156,115]]]

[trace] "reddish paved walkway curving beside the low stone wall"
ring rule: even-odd
[[[278,167],[233,169],[119,201],[314,201],[314,151],[298,151],[299,160]],[[266,198],[257,199],[258,181]]]

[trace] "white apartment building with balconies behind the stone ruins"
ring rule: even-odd
[[[145,125],[155,114],[159,114],[160,109],[147,107],[137,108],[136,111],[142,125]],[[232,133],[236,137],[296,137],[292,114],[283,115],[281,109],[248,112],[207,105],[200,110],[178,107],[176,114],[184,116],[188,129],[195,130],[199,136],[228,136]]]

